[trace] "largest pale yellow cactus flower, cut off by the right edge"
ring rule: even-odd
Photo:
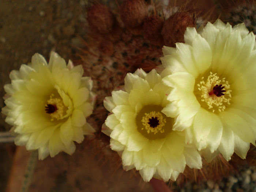
[[[176,117],[174,130],[185,129],[186,143],[207,147],[208,160],[215,150],[245,158],[256,139],[255,35],[217,20],[199,32],[188,27],[184,38],[163,47],[163,82],[174,88],[164,113]]]

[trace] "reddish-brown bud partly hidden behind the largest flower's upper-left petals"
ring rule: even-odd
[[[186,28],[195,26],[195,18],[188,12],[173,14],[163,24],[162,36],[164,45],[174,47],[176,42],[184,42]]]

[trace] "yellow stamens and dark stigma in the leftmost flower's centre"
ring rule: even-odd
[[[50,114],[51,121],[62,119],[64,114],[64,103],[62,99],[54,97],[54,94],[51,94],[50,99],[47,100],[47,104],[45,105],[45,112]]]

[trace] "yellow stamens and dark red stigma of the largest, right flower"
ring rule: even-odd
[[[200,100],[206,103],[208,109],[212,109],[213,113],[215,110],[224,111],[226,109],[225,104],[230,105],[229,82],[225,78],[219,79],[216,73],[210,72],[206,81],[202,77],[200,83],[197,84],[197,89],[200,92]]]

